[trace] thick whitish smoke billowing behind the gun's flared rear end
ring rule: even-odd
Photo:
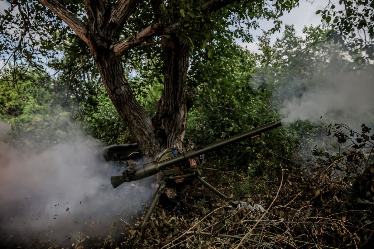
[[[0,138],[7,130],[9,125],[0,121]],[[64,245],[79,236],[105,238],[108,224],[124,225],[141,212],[153,194],[145,187],[153,179],[113,189],[110,176],[121,169],[104,161],[100,146],[77,136],[35,152],[0,141],[1,243],[42,239]]]

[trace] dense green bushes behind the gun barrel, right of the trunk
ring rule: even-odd
[[[227,47],[217,44],[216,51]],[[268,93],[250,85],[254,56],[234,44],[229,51],[212,58],[206,54],[198,66],[191,67],[190,84],[200,82],[201,92],[196,93],[196,103],[189,112],[186,137],[197,144],[209,144],[279,118],[270,107]],[[287,139],[285,130],[277,128],[260,139],[209,153],[206,161],[221,169],[273,178],[279,173],[279,159],[273,160],[273,153],[291,153]]]

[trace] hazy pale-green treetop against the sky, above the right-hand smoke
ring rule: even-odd
[[[304,27],[303,36],[297,36],[294,27],[286,25],[283,37],[277,38],[273,46],[270,46],[269,33],[260,37],[261,66],[252,84],[270,91],[272,106],[278,113],[287,100],[300,97],[315,86],[313,81],[326,81],[331,72],[360,68],[352,62],[352,57],[327,41],[327,32],[320,26]]]

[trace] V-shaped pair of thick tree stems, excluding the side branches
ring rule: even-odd
[[[125,121],[143,155],[154,159],[163,149],[181,148],[187,121],[186,75],[190,47],[175,35],[162,37],[165,53],[165,77],[163,94],[157,103],[153,118],[144,111],[135,99],[125,78],[121,56],[111,50],[119,40],[105,19],[107,5],[86,5],[89,16],[88,45],[101,79],[118,113]],[[160,25],[153,25],[154,28]],[[153,27],[152,26],[152,27]],[[104,28],[103,28],[104,27]],[[132,39],[136,39],[134,36]],[[131,40],[131,39],[130,39]],[[129,40],[129,41],[130,41]]]

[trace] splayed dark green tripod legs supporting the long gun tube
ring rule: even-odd
[[[166,183],[169,180],[175,180],[177,178],[193,177],[194,179],[197,179],[202,185],[204,185],[209,190],[211,190],[213,193],[215,193],[221,199],[229,199],[223,193],[219,192],[212,185],[210,185],[205,180],[203,180],[203,178],[200,177],[200,172],[199,172],[198,169],[195,171],[194,169],[188,168],[188,169],[186,169],[184,171],[185,173],[182,174],[182,175],[175,175],[176,172],[177,173],[181,172],[180,169],[165,169],[162,172],[164,174],[164,177],[162,178],[160,186],[158,187],[157,192],[156,192],[156,194],[155,194],[155,196],[153,198],[153,201],[152,201],[151,205],[149,206],[148,212],[147,212],[147,214],[144,217],[144,220],[143,220],[143,222],[141,224],[142,228],[144,228],[145,223],[147,223],[148,220],[149,220],[149,218],[151,217],[153,209],[156,206],[157,201],[160,199],[162,191],[165,189]],[[238,205],[241,205],[242,203],[240,203],[240,202],[234,202],[233,200],[230,200],[230,204],[233,205],[233,206],[238,206]]]

